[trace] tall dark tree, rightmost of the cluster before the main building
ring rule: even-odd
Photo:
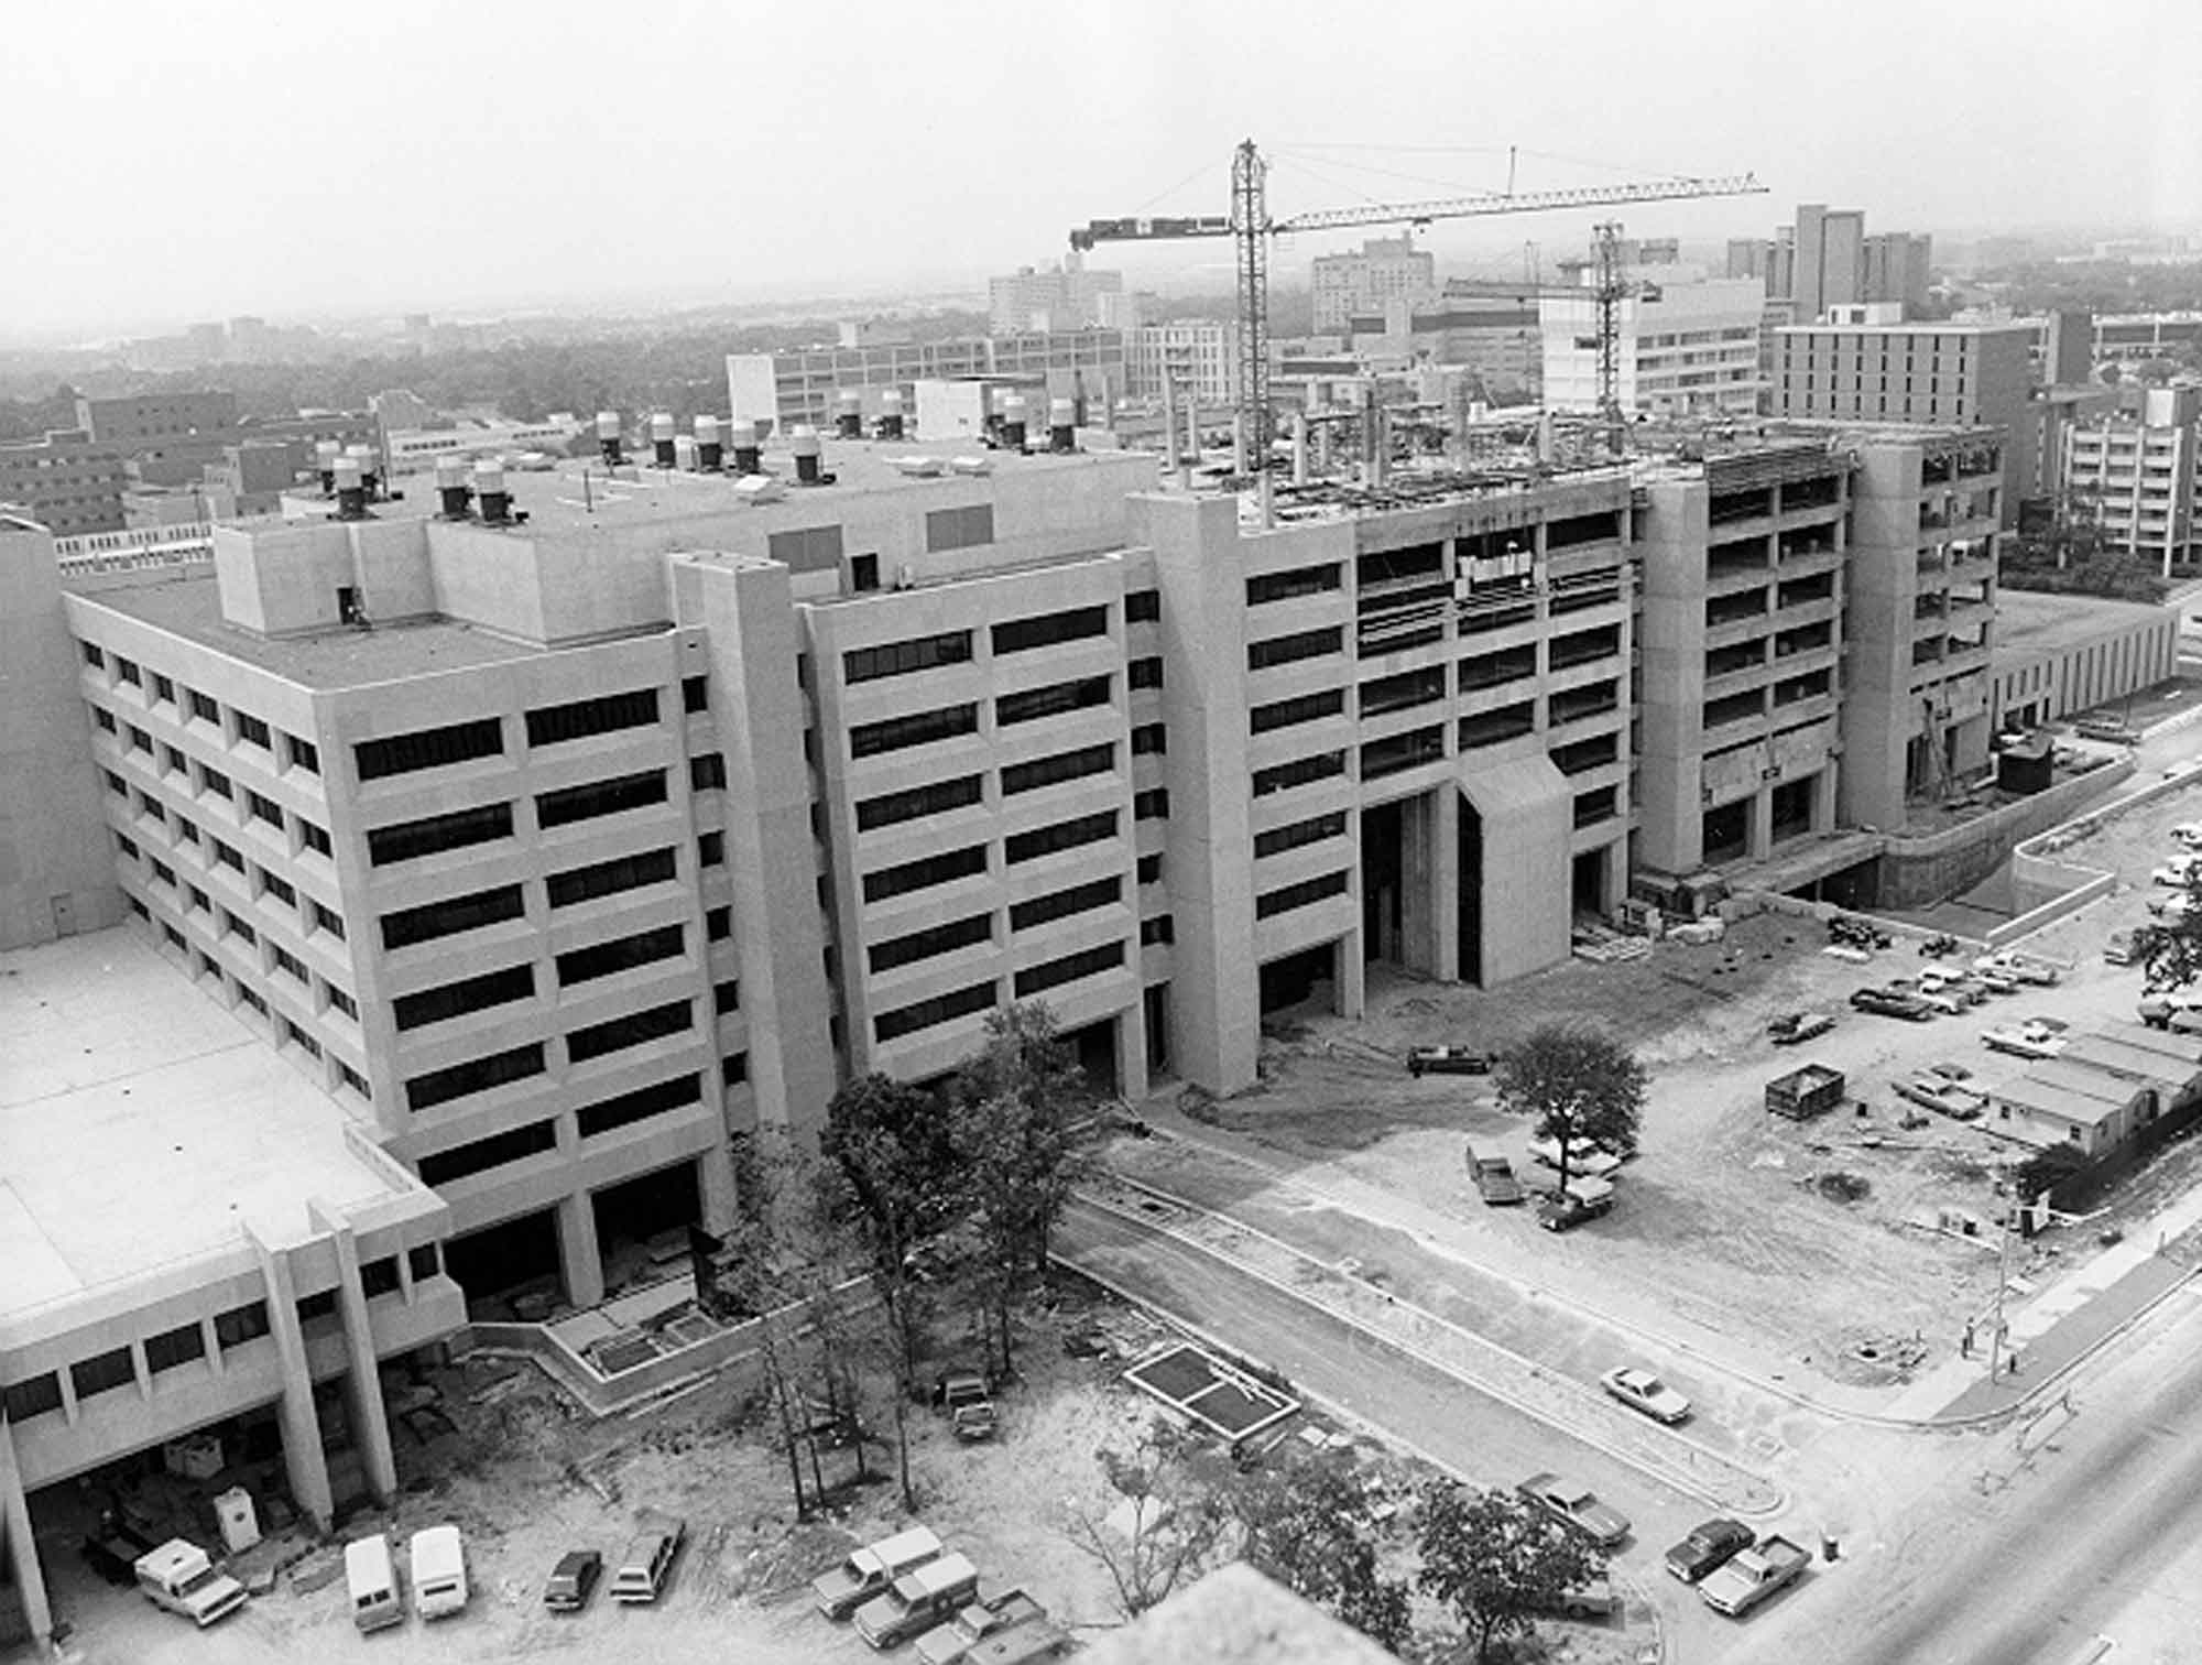
[[[1011,1370],[1009,1313],[1033,1277],[1048,1271],[1048,1242],[1081,1169],[1072,1110],[1079,1073],[1042,1002],[1000,1006],[986,1046],[956,1084],[949,1141],[971,1222],[986,1244],[980,1297]]]

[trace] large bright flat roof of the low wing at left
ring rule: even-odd
[[[0,1319],[401,1196],[344,1106],[134,927],[0,956]]]

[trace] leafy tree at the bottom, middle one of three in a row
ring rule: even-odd
[[[1359,1528],[1367,1500],[1337,1458],[1257,1469],[1231,1491],[1242,1555],[1394,1654],[1414,1630],[1407,1584],[1387,1579]]]

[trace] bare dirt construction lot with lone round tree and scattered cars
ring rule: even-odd
[[[2165,819],[2180,815],[2167,808]],[[2138,971],[2105,967],[2099,954],[2110,927],[2129,923],[2125,912],[2138,916],[2138,905],[2099,905],[2039,943],[2074,960],[2059,987],[1927,1024],[1847,1004],[1854,989],[1927,965],[1909,940],[1872,965],[1845,965],[1821,954],[1817,923],[1781,914],[1744,921],[1720,945],[1663,943],[1643,960],[1574,962],[1489,993],[1372,976],[1365,1020],[1293,1013],[1264,1046],[1262,1084],[1200,1117],[1288,1152],[1317,1183],[1337,1165],[1425,1207],[1467,1211],[1489,1264],[1577,1293],[1592,1310],[1680,1313],[1768,1374],[1795,1381],[1808,1368],[1852,1388],[1894,1388],[1905,1379],[1892,1363],[1898,1341],[1918,1337],[1927,1361],[1947,1357],[1966,1315],[1986,1304],[1995,1176],[2024,1150],[1977,1123],[1922,1119],[1889,1084],[1940,1059],[1975,1070],[1975,1086],[2019,1075],[2021,1059],[1980,1044],[1991,1022],[2132,1018]],[[1766,1022],[1784,1011],[1839,1022],[1819,1042],[1777,1048]],[[1652,1070],[1643,1154],[1623,1174],[1621,1207],[1563,1238],[1464,1209],[1460,1136],[1495,1143],[1526,1169],[1528,1130],[1497,1112],[1486,1081],[1411,1079],[1400,1066],[1416,1042],[1502,1048],[1552,1018],[1605,1026]],[[1845,1070],[1863,1108],[1803,1125],[1766,1114],[1764,1084],[1803,1062]],[[2132,1187],[2136,1200],[2182,1183],[2191,1158],[2189,1147],[2171,1152]],[[1854,1176],[1865,1194],[1832,1200],[1823,1176]],[[1944,1209],[1980,1220],[1982,1236],[1938,1231]],[[2015,1271],[2046,1271],[2092,1247],[2085,1233],[2043,1238]]]

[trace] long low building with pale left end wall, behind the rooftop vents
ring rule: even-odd
[[[1125,350],[1123,330],[1053,330],[729,352],[727,396],[735,418],[764,418],[786,432],[797,423],[828,423],[841,392],[865,392],[865,410],[872,410],[883,390],[896,388],[905,407],[916,410],[920,381],[1022,381],[1079,401],[1090,412],[1086,421],[1097,421],[1123,396]]]

